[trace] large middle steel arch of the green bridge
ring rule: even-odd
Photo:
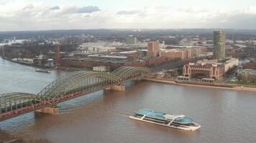
[[[121,79],[107,72],[75,71],[67,76],[56,79],[38,94],[52,99],[61,99],[67,94],[76,92],[90,93],[115,84]]]

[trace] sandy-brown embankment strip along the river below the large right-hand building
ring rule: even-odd
[[[229,89],[229,90],[237,90],[237,91],[249,91],[249,92],[256,92],[255,87],[243,87],[240,85],[235,84],[209,84],[209,83],[197,83],[197,82],[183,82],[183,81],[176,81],[176,80],[169,80],[169,79],[156,79],[156,78],[149,78],[145,79],[151,82],[160,82],[165,84],[174,84],[180,86],[190,86],[190,87],[206,87],[206,88],[215,88],[215,89]]]

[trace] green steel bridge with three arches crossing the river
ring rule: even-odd
[[[58,77],[38,94],[0,94],[0,121],[44,107],[52,107],[60,102],[121,85],[129,80],[144,79],[148,74],[150,69],[132,66],[123,66],[111,73],[75,71]]]

